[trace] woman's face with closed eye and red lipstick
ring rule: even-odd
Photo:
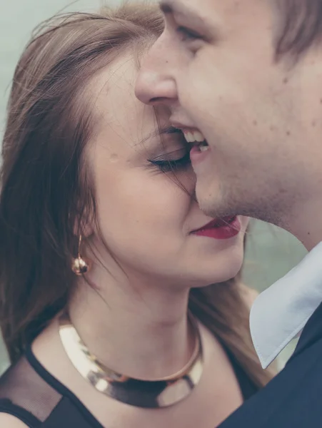
[[[169,127],[164,107],[157,111],[160,136],[154,109],[134,95],[136,74],[131,57],[123,57],[89,88],[96,117],[89,158],[104,240],[130,277],[191,287],[228,280],[243,261],[248,219],[193,233],[213,219],[191,198],[195,178],[187,143]]]

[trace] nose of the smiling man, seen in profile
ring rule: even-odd
[[[136,80],[136,97],[145,104],[171,105],[177,99],[176,82],[169,73],[170,63],[163,55],[163,46],[154,44],[141,62]]]

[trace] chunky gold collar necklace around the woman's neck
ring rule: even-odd
[[[196,345],[189,362],[176,374],[156,380],[134,379],[114,372],[89,352],[67,312],[59,318],[59,335],[64,350],[82,377],[103,394],[136,407],[168,407],[188,397],[203,372],[201,336],[196,320],[189,315]]]

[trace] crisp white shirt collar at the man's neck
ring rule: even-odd
[[[251,336],[264,369],[298,335],[322,302],[322,243],[251,308]]]

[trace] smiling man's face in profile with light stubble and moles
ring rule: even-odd
[[[216,217],[281,223],[303,203],[321,158],[321,58],[275,60],[281,23],[271,3],[161,4],[166,28],[136,83],[141,101],[171,107],[188,140],[196,129],[206,139],[208,150],[194,147],[191,160],[198,202]]]

